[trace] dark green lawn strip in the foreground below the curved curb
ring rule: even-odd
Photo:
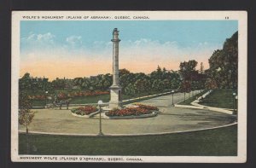
[[[236,156],[237,126],[161,136],[29,135],[29,154]],[[19,154],[26,154],[26,135],[19,135]]]

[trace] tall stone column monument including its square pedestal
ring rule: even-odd
[[[119,31],[113,29],[113,84],[110,86],[110,108],[122,106],[121,87],[119,86]]]

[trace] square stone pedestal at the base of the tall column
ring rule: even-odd
[[[122,107],[121,90],[122,90],[122,88],[117,85],[110,87],[109,108]]]

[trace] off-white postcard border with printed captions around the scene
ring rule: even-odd
[[[35,18],[23,18],[22,16]],[[238,148],[237,156],[69,156],[76,160],[61,160],[61,155],[19,155],[18,154],[18,82],[20,71],[20,20],[42,19],[41,16],[80,15],[76,20],[238,20]],[[110,16],[111,19],[89,19],[84,16]],[[130,16],[130,19],[114,18]],[[148,19],[147,19],[148,16]],[[136,18],[136,17],[141,17]],[[13,11],[12,13],[12,62],[11,62],[11,159],[19,162],[175,162],[175,163],[244,163],[247,160],[247,12],[246,11]],[[20,159],[25,157],[25,159]],[[26,159],[27,157],[27,159]],[[42,159],[32,159],[42,157]],[[56,159],[44,159],[53,157]],[[91,158],[84,160],[84,158]],[[82,158],[82,159],[81,159]],[[93,158],[103,158],[97,160]],[[122,158],[123,160],[108,160]],[[142,159],[138,161],[137,159]],[[129,160],[130,159],[130,160]]]

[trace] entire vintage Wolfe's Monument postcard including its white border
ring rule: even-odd
[[[13,11],[15,162],[244,163],[246,11]]]

